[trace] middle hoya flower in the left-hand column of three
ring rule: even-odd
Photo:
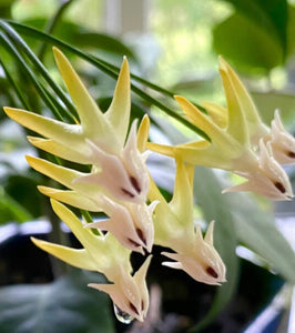
[[[143,253],[143,249],[146,249],[151,252],[154,239],[152,212],[156,202],[148,206],[145,202],[114,201],[104,195],[95,183],[75,181],[87,176],[82,172],[39,158],[27,157],[27,161],[37,171],[72,190],[39,186],[43,194],[79,209],[104,212],[110,219],[88,224],[88,226],[110,231],[122,245],[132,251]]]

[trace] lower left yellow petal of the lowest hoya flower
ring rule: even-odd
[[[95,262],[84,249],[71,249],[68,246],[37,240],[35,238],[31,238],[31,241],[41,250],[57,256],[72,266],[81,270],[98,271]]]

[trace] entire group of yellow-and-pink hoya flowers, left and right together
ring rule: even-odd
[[[204,103],[207,114],[204,114],[186,99],[175,97],[190,121],[202,129],[211,142],[201,140],[176,147],[151,143],[148,142],[148,115],[139,130],[135,120],[129,131],[131,100],[126,59],[111,105],[103,113],[64,54],[58,49],[53,51],[79,114],[77,123],[19,109],[4,108],[4,111],[42,135],[28,137],[34,147],[63,160],[89,165],[89,172],[81,172],[27,157],[33,169],[67,188],[39,186],[39,190],[51,198],[54,212],[83,249],[32,239],[34,244],[71,265],[103,273],[109,283],[89,285],[108,293],[121,313],[139,321],[145,319],[149,309],[145,276],[152,256],[148,255],[133,274],[132,251],[144,255],[152,252],[153,244],[162,245],[173,251],[162,253],[172,260],[164,265],[181,269],[206,284],[225,282],[225,265],[213,244],[214,222],[204,236],[194,224],[194,165],[233,171],[247,180],[227,191],[254,191],[275,200],[292,198],[289,181],[281,164],[294,162],[295,141],[284,130],[278,112],[268,129],[240,79],[221,60],[227,109],[207,102]],[[175,159],[174,193],[170,202],[149,174],[145,148]],[[90,212],[103,212],[106,219],[81,222],[61,202]],[[92,229],[99,230],[99,234]]]

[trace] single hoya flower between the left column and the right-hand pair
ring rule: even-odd
[[[173,198],[165,201],[155,183],[151,180],[150,200],[160,203],[154,210],[154,243],[170,248],[174,252],[163,252],[174,262],[163,264],[185,271],[196,281],[206,284],[225,282],[224,263],[213,245],[211,223],[205,238],[193,221],[193,167],[176,160],[176,176]]]

